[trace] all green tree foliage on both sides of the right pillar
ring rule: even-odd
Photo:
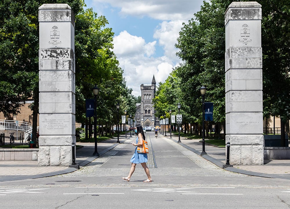
[[[232,2],[204,1],[200,11],[180,30],[175,46],[182,62],[168,79],[174,74],[180,80],[175,86],[179,92],[176,100],[182,103],[188,122],[201,122],[202,85],[207,88],[205,101],[214,103],[214,122],[225,120],[224,12]],[[290,2],[259,0],[258,3],[262,5],[264,117],[275,115],[286,121],[290,103]],[[170,109],[167,82],[160,83],[156,92],[154,102],[158,111]]]

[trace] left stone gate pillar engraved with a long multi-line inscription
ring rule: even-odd
[[[39,165],[72,164],[75,141],[75,16],[67,4],[39,7]]]

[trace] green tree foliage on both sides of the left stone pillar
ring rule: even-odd
[[[38,8],[44,3],[67,3],[75,14],[76,121],[85,121],[85,100],[99,86],[98,120],[110,121],[115,104],[132,109],[132,90],[126,87],[123,70],[113,53],[112,28],[84,0],[3,0],[0,3],[0,112],[19,113],[28,98],[34,99],[33,124],[38,114]],[[34,127],[36,133],[36,127]]]

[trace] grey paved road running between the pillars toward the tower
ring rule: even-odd
[[[73,173],[1,182],[0,208],[290,208],[290,181],[233,173],[148,132],[152,183],[126,140]]]

